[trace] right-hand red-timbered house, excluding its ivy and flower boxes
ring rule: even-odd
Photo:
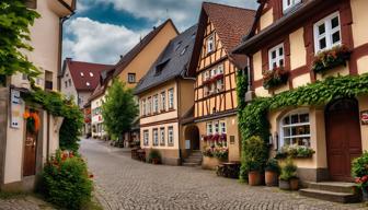
[[[251,91],[273,97],[329,77],[368,72],[368,14],[365,0],[262,1],[253,31],[237,49],[251,58]],[[348,49],[344,62],[318,72],[313,60],[321,51]],[[265,75],[283,68],[278,85]],[[296,159],[302,180],[352,182],[350,163],[368,150],[365,118],[368,96],[342,97],[325,105],[296,106],[268,115],[273,150],[304,147],[311,158]],[[274,152],[273,152],[274,153]]]

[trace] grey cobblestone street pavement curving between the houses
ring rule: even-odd
[[[83,140],[81,151],[105,209],[364,209],[361,203],[340,205],[278,188],[249,187],[200,168],[141,163],[94,140]]]

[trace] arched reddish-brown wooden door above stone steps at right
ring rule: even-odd
[[[356,100],[340,100],[325,112],[327,163],[333,180],[352,182],[352,161],[361,154],[359,108]]]

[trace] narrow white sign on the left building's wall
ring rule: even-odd
[[[10,91],[10,127],[19,128],[22,120],[21,115],[21,92],[16,90]]]

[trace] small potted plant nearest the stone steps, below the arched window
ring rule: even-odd
[[[288,158],[285,165],[281,167],[281,174],[279,177],[278,187],[280,189],[297,190],[299,188],[299,178],[297,176],[298,167],[292,163],[292,160]]]

